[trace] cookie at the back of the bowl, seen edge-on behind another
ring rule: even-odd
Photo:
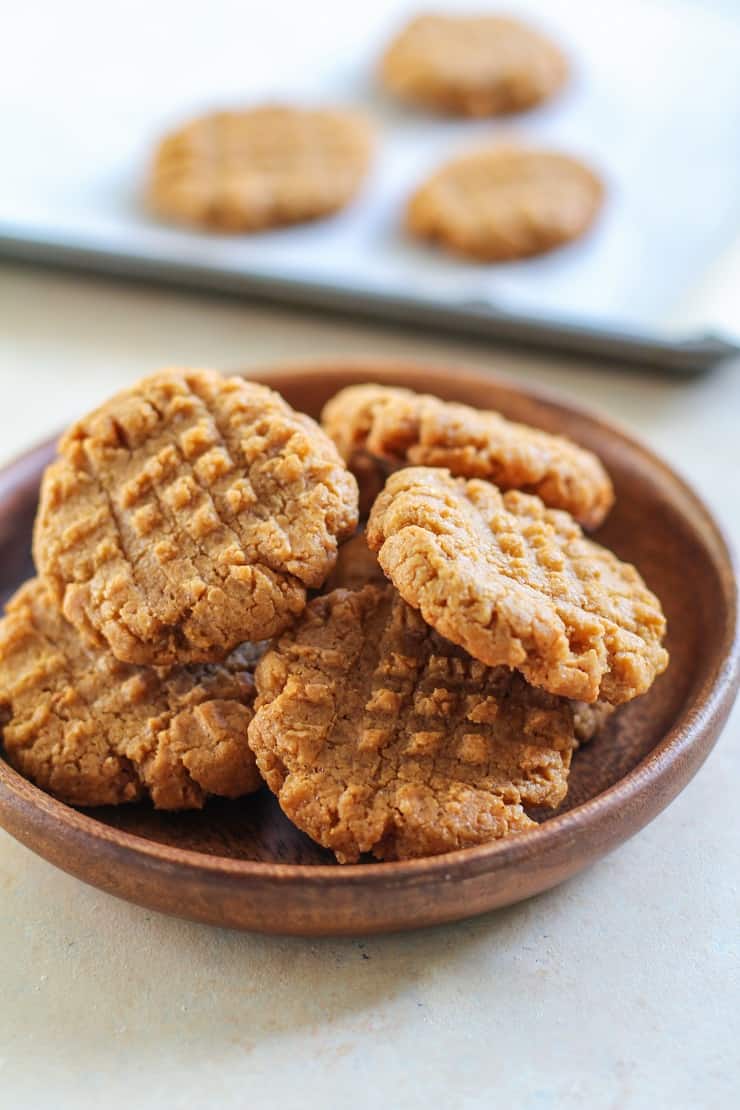
[[[586,527],[597,527],[614,503],[609,475],[590,451],[495,412],[388,385],[349,385],[325,405],[322,424],[355,472],[368,512],[387,474],[402,466],[444,466],[457,477],[535,493]]]

